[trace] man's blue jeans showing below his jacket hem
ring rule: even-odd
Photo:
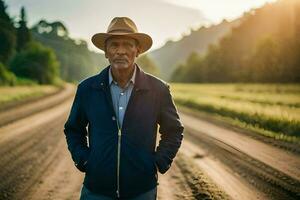
[[[157,197],[157,187],[155,187],[154,189],[148,192],[140,194],[137,197],[131,198],[130,200],[156,200],[156,197]],[[81,189],[80,200],[114,200],[114,199],[99,194],[93,194],[83,185]]]

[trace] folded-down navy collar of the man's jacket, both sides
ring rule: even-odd
[[[91,86],[95,89],[106,89],[109,87],[109,66],[105,67],[99,74],[95,76]],[[138,90],[149,90],[149,82],[145,72],[136,64],[135,84],[134,88]]]

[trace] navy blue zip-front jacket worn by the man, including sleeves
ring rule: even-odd
[[[79,83],[64,133],[76,167],[85,172],[84,185],[94,193],[116,198],[118,127],[108,69]],[[155,149],[158,125],[160,140]],[[169,85],[137,66],[121,129],[121,199],[158,184],[156,165],[162,174],[170,168],[183,129]]]

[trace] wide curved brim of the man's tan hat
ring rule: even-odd
[[[144,53],[152,46],[152,38],[145,33],[96,33],[92,37],[93,44],[105,51],[105,41],[112,36],[127,36],[136,39],[139,42],[140,53]]]

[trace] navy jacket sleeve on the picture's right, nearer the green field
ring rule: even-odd
[[[159,172],[164,174],[171,167],[179,150],[184,126],[180,122],[168,84],[162,89],[160,102],[158,124],[161,138],[156,149],[155,162]]]

